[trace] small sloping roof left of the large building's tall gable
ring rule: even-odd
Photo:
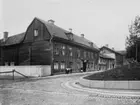
[[[3,42],[2,41],[3,39],[2,39],[1,43],[3,43],[2,45],[5,45],[5,46],[18,44],[23,40],[24,36],[25,36],[25,32],[14,35],[14,36],[10,36],[5,42]]]

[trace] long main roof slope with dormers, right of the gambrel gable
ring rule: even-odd
[[[47,29],[48,29],[48,31],[50,32],[51,35],[69,40],[69,38],[66,35],[66,33],[69,33],[69,31],[62,29],[62,28],[56,26],[55,24],[50,24],[47,21],[44,21],[42,19],[39,19],[39,18],[36,18],[36,19],[38,19],[43,24],[45,24],[45,26],[47,27]],[[75,34],[73,34],[73,41],[76,42],[76,43],[83,44],[83,45],[86,45],[88,47],[91,47],[91,44],[90,44],[91,41],[87,40],[86,38],[75,35]],[[96,49],[96,50],[99,50],[99,48],[94,43],[93,43],[93,48]]]

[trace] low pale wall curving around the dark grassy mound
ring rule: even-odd
[[[140,89],[140,81],[102,81],[80,78],[79,83],[90,88]]]

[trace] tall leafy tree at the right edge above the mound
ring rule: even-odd
[[[126,58],[134,58],[140,62],[140,16],[136,16],[129,26],[129,36],[126,37]]]

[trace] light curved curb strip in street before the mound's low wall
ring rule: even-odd
[[[128,92],[128,94],[127,94],[127,92],[117,93],[117,91],[116,92],[115,91],[107,91],[106,92],[106,90],[85,88],[85,87],[79,86],[75,82],[73,82],[71,84],[70,84],[70,82],[67,82],[67,83],[65,83],[65,87],[75,89],[78,91],[90,92],[91,93],[90,96],[92,96],[92,97],[118,98],[118,99],[138,99],[138,101],[140,102],[140,94],[134,95],[134,93],[132,93],[132,95],[131,95],[130,92]]]

